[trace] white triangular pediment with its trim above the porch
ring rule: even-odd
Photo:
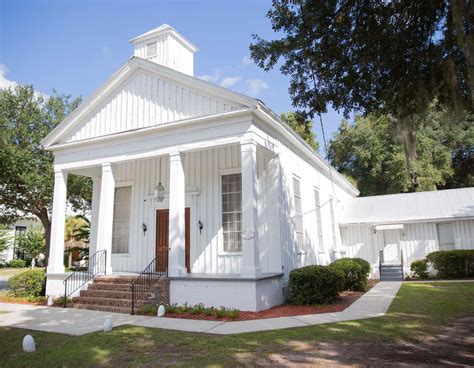
[[[257,101],[133,58],[43,141],[45,147],[84,141],[254,106]]]

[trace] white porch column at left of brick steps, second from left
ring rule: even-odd
[[[112,273],[112,224],[114,218],[115,178],[112,165],[102,164],[96,250],[107,251],[106,273]]]

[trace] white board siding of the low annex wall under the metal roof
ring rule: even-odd
[[[447,221],[454,225],[456,249],[474,249],[474,220]],[[410,272],[411,262],[440,250],[436,222],[416,222],[403,225],[400,247],[403,251],[404,271]],[[378,277],[379,252],[384,248],[383,230],[374,232],[369,224],[342,225],[341,236],[347,257],[360,257],[372,266]]]

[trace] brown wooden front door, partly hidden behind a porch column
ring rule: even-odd
[[[191,269],[190,258],[190,220],[191,210],[185,208],[185,266],[187,272]],[[169,253],[169,209],[156,210],[156,271],[166,272],[168,270]]]

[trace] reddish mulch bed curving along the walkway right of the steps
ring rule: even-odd
[[[190,313],[166,313],[165,317],[168,318],[183,318],[183,319],[197,319],[206,321],[248,321],[253,319],[265,319],[265,318],[276,318],[276,317],[291,317],[301,316],[305,314],[320,314],[320,313],[334,313],[342,312],[344,309],[349,307],[373,286],[378,283],[378,280],[369,280],[368,288],[366,291],[343,291],[339,293],[339,298],[333,304],[329,305],[278,305],[271,309],[267,309],[260,312],[246,312],[241,311],[240,315],[236,318],[217,318],[216,316],[206,316],[204,314],[190,314]]]

